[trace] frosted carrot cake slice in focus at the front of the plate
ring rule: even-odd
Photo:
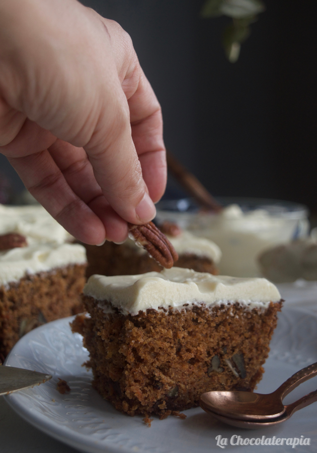
[[[253,390],[263,373],[282,301],[264,278],[173,267],[93,275],[84,288],[84,336],[94,387],[131,416],[198,406],[210,390]]]

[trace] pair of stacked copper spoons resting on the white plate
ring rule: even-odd
[[[275,392],[259,394],[252,392],[221,392],[213,391],[203,393],[200,397],[200,406],[214,417],[229,419],[236,422],[266,425],[272,422],[281,423],[287,420],[295,410],[308,406],[317,401],[317,391],[306,395],[295,403],[284,406],[283,398],[299,384],[313,378],[317,374],[317,362],[297,371],[285,381]],[[305,403],[305,404],[304,404]],[[304,404],[304,405],[303,405]],[[286,418],[285,418],[286,417]],[[220,419],[220,418],[219,418]],[[224,421],[224,420],[222,420]],[[238,425],[234,425],[238,426]],[[247,426],[245,426],[247,427]]]

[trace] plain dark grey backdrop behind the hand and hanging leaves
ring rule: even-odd
[[[230,19],[201,19],[202,0],[82,3],[130,34],[163,108],[167,147],[213,194],[316,212],[317,2],[264,1],[234,64],[220,42]],[[3,156],[0,167],[14,175]]]

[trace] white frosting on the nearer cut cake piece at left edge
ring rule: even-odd
[[[19,281],[27,274],[50,271],[69,264],[85,264],[80,244],[37,244],[0,252],[0,286]]]

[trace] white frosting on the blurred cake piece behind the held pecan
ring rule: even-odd
[[[209,239],[198,238],[188,231],[183,231],[179,236],[173,237],[166,235],[175,250],[179,255],[186,253],[193,254],[199,257],[206,257],[213,261],[215,264],[219,263],[221,259],[220,248]],[[127,239],[125,242],[129,247],[138,249],[138,253],[147,253],[143,248],[138,247],[134,241]]]

